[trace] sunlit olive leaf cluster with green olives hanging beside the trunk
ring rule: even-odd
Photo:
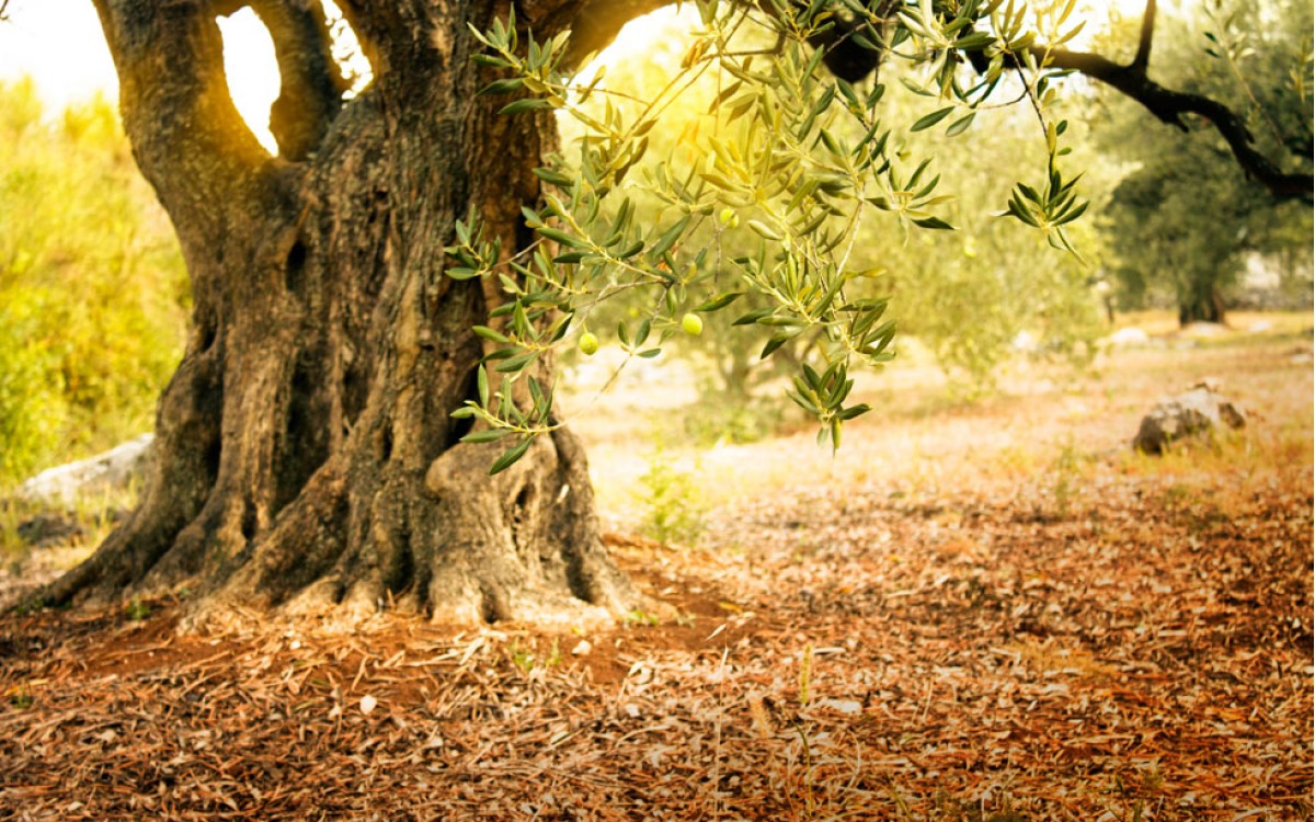
[[[1063,225],[1086,205],[1077,201],[1076,180],[1059,172],[1064,124],[1045,122],[1056,72],[1045,70],[1044,53],[1035,54],[1028,7],[922,0],[903,4],[892,24],[882,17],[888,5],[696,0],[701,26],[681,71],[644,99],[608,89],[601,70],[565,72],[568,34],[539,42],[514,18],[475,32],[487,47],[475,59],[504,75],[481,93],[521,95],[505,114],[552,109],[581,126],[569,162],[552,157],[535,170],[542,204],[523,209],[535,242],[505,256],[472,213],[447,249],[448,276],[496,276],[505,297],[490,325],[475,329],[490,343],[479,396],[454,412],[485,423],[467,442],[514,441],[492,472],[558,425],[535,363],[572,330],[584,354],[597,350],[602,331],[589,329],[590,313],[623,292],[638,292],[646,305],[615,329],[626,359],[658,356],[675,334],[697,334],[700,314],[757,295],[765,305],[734,325],[763,334],[764,359],[797,337],[815,341],[819,362],[801,366],[789,396],[818,420],[819,442],[838,447],[842,425],[871,410],[847,404],[851,366],[892,359],[896,333],[884,317],[886,301],[865,296],[863,281],[874,272],[851,266],[860,226],[894,218],[905,231],[951,230],[942,210],[952,197],[938,193],[935,159],[914,157],[909,135],[947,120],[948,134],[968,132],[997,89],[1035,107],[1049,155],[1043,191],[1019,184],[1002,213],[1068,246]],[[1055,42],[1076,34],[1059,33],[1073,3],[1060,5],[1036,14],[1038,22],[1048,16],[1044,32]],[[905,83],[940,108],[907,128],[884,122],[885,84],[849,83],[822,67],[838,26],[873,53],[873,63],[884,55],[924,66],[923,84]],[[665,159],[636,170],[650,132],[705,72],[718,84],[706,114]],[[656,221],[636,220],[636,197],[660,204]],[[501,377],[496,391],[487,368]],[[515,389],[521,379],[527,391]]]

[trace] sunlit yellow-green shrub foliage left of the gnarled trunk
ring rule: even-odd
[[[0,485],[150,430],[187,275],[104,100],[0,84]]]

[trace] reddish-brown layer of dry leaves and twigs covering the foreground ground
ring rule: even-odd
[[[686,616],[581,658],[11,618],[0,817],[1310,818],[1310,498],[1219,521],[1164,493],[1064,521],[857,496],[784,544],[803,514],[764,506],[752,560],[625,550]]]

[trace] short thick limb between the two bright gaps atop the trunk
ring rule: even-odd
[[[279,153],[305,159],[316,150],[342,108],[347,83],[333,59],[323,7],[312,0],[254,0],[279,60],[279,99],[270,109],[270,130]]]

